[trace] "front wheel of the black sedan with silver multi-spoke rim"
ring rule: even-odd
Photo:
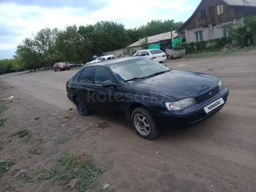
[[[144,128],[142,129],[140,129],[141,123],[144,124]],[[147,110],[141,107],[134,109],[134,111],[131,113],[131,124],[133,125],[133,128],[136,130],[138,136],[145,138],[147,140],[152,140],[153,138],[157,137],[160,133],[150,113],[148,113]],[[149,127],[147,127],[147,125]],[[148,131],[148,133],[146,133],[146,131]]]

